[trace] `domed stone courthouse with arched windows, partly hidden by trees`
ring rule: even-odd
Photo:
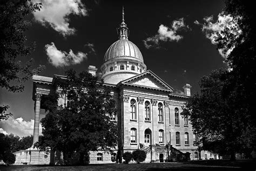
[[[197,135],[192,132],[188,118],[180,115],[190,96],[190,84],[184,85],[184,95],[174,93],[170,85],[147,69],[142,53],[128,36],[129,29],[124,22],[123,12],[118,40],[107,49],[104,63],[100,67],[104,85],[111,87],[116,101],[117,115],[112,115],[111,120],[117,122],[121,137],[118,147],[112,153],[90,152],[90,163],[112,162],[118,149],[121,153],[142,149],[147,154],[145,162],[164,162],[167,159],[176,161],[185,158],[188,153],[191,160],[197,160]],[[97,69],[90,65],[88,72],[96,75]],[[34,143],[38,141],[42,96],[56,91],[52,86],[56,77],[62,76],[33,76]],[[59,98],[59,105],[66,100],[64,97]],[[15,154],[16,164],[49,164],[53,158],[33,148]],[[210,155],[217,158],[210,152],[201,153],[202,159],[210,159]]]

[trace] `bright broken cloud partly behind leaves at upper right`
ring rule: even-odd
[[[213,21],[213,16],[209,17],[204,17],[204,23],[201,24],[198,22],[198,20],[194,21],[194,24],[201,25],[202,26],[202,31],[205,33],[206,38],[211,40],[212,44],[217,44],[215,42],[215,37],[217,37],[218,34],[221,36],[224,36],[221,31],[227,28],[236,28],[237,23],[235,22],[235,19],[231,17],[230,15],[225,15],[223,12],[219,13],[218,19],[216,22]],[[238,36],[238,35],[237,35]],[[228,54],[232,52],[234,47],[231,47],[230,49],[227,50],[227,52],[224,51],[224,49],[219,49],[219,53],[223,58],[226,58]]]

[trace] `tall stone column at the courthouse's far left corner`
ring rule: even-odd
[[[35,106],[35,123],[34,123],[34,133],[33,133],[33,144],[38,141],[39,137],[39,120],[40,120],[40,104],[41,104],[42,94],[36,93],[36,106]]]

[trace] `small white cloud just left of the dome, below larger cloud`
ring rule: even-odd
[[[84,59],[87,59],[87,53],[77,52],[75,54],[71,49],[69,53],[60,51],[53,42],[45,45],[45,51],[49,62],[55,67],[80,64]]]

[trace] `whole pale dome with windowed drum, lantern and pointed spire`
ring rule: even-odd
[[[114,85],[147,69],[139,48],[128,40],[129,29],[124,22],[124,9],[122,18],[122,23],[117,29],[119,40],[107,49],[104,63],[100,67],[104,83]]]

